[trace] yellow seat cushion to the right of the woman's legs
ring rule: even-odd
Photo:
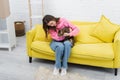
[[[112,43],[77,44],[72,49],[71,56],[87,59],[113,60]]]

